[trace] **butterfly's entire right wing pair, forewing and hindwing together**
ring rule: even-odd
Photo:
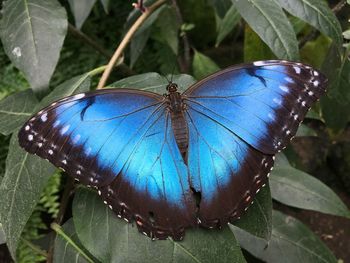
[[[325,84],[309,66],[263,61],[220,71],[185,91],[188,167],[201,193],[203,225],[240,216]]]

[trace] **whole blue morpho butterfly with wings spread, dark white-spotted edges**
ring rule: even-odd
[[[220,227],[267,182],[326,78],[288,61],[221,70],[184,93],[105,89],[70,96],[32,117],[20,145],[48,159],[152,237]]]

